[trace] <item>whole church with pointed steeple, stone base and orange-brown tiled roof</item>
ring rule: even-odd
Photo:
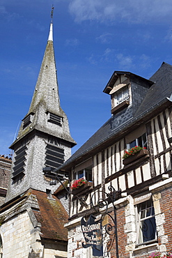
[[[61,183],[53,171],[76,143],[60,105],[52,26],[29,112],[10,146],[10,182],[0,209],[3,258],[67,257],[68,196],[56,192]]]

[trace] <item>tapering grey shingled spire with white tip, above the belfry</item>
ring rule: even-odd
[[[29,130],[33,130],[33,128],[35,128],[36,130],[49,133],[56,137],[62,137],[72,144],[75,144],[75,141],[70,136],[68,119],[63,112],[63,109],[61,109],[60,98],[58,95],[52,26],[53,24],[51,23],[47,47],[42,60],[40,73],[38,75],[36,89],[33,93],[31,106],[28,114],[26,114],[23,119],[23,123],[26,119],[30,119],[31,123],[29,128],[26,128],[22,124],[18,137],[23,137],[29,132]],[[61,119],[60,127],[49,123],[49,114],[54,114],[54,116],[58,116],[59,119]]]

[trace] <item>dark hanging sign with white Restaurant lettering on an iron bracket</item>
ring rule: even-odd
[[[89,246],[97,249],[102,253],[102,223],[99,220],[95,222],[95,217],[90,215],[88,221],[86,222],[84,218],[81,218],[81,230],[84,234],[84,239],[86,244],[82,243],[84,248],[88,248]],[[101,254],[100,254],[101,255]]]

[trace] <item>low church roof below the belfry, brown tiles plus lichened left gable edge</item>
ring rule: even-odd
[[[31,213],[34,213],[36,220],[30,212],[29,216],[35,227],[40,225],[41,238],[68,241],[68,230],[64,227],[68,222],[68,213],[56,196],[47,198],[46,192],[29,189],[24,195],[15,197],[13,202],[10,200],[3,204],[0,208],[0,216],[3,220],[9,219],[24,210],[28,212],[31,210]]]

